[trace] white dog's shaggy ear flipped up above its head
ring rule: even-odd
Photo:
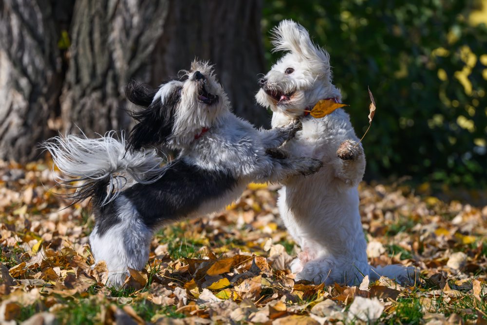
[[[308,31],[293,20],[285,19],[272,31],[273,52],[284,51],[299,54],[307,60],[319,60],[329,65],[330,55],[315,46]]]

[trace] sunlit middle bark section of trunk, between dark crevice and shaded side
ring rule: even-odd
[[[70,66],[61,97],[64,129],[105,133],[131,119],[123,87],[147,80],[161,37],[168,1],[77,0],[71,29]]]

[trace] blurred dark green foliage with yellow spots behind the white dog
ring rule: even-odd
[[[285,18],[330,53],[359,137],[372,90],[367,179],[486,186],[487,1],[265,1],[269,67],[281,55],[270,54],[269,31]]]

